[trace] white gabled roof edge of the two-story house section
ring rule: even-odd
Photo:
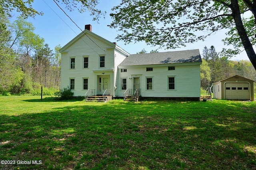
[[[105,38],[102,38],[101,36],[98,36],[97,34],[94,34],[93,32],[89,31],[89,30],[84,30],[83,32],[81,32],[80,34],[78,34],[75,38],[73,38],[70,42],[68,42],[68,44],[66,44],[65,46],[63,46],[62,48],[60,48],[59,52],[66,52],[66,50],[68,49],[68,47],[70,47],[72,44],[74,44],[77,40],[79,40],[80,38],[82,38],[83,36],[92,36],[94,38],[97,38],[99,40],[101,40],[102,42],[108,44],[110,46],[110,48],[116,48],[117,50],[123,52],[126,55],[129,55],[128,52],[126,52],[124,49],[122,49],[121,47],[119,47],[118,45],[106,40]]]

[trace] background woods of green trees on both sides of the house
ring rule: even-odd
[[[43,95],[54,95],[60,91],[61,54],[58,50],[61,46],[50,49],[44,38],[35,34],[34,30],[33,24],[21,16],[10,22],[7,16],[1,14],[0,95],[40,95],[41,86]],[[202,88],[234,75],[256,81],[256,70],[248,60],[230,60],[216,52],[214,46],[205,46],[201,56]]]

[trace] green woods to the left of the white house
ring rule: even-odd
[[[0,15],[0,94],[52,94],[60,86],[58,50],[50,49],[24,18]]]

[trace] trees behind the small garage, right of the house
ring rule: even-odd
[[[247,60],[232,61],[220,56],[215,47],[204,47],[201,65],[201,87],[210,87],[212,83],[235,75],[256,81],[256,70]]]

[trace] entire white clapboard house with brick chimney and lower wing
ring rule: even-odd
[[[60,49],[61,88],[70,87],[74,96],[88,90],[113,97],[127,90],[142,97],[200,97],[199,50],[133,54],[92,32],[92,26]]]

